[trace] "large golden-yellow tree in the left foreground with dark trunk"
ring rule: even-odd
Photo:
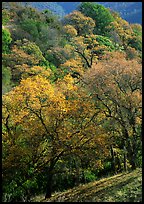
[[[105,149],[105,134],[93,120],[93,108],[70,75],[55,84],[42,75],[32,76],[3,95],[3,181],[25,188],[44,171],[45,197],[50,197],[60,159],[82,154],[84,148],[87,154],[91,148],[94,154]]]

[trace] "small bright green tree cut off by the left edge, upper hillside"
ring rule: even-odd
[[[11,34],[7,29],[2,29],[2,52],[10,52],[10,44],[12,42]]]

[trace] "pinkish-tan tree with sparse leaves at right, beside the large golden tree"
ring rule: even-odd
[[[120,168],[127,170],[129,164],[135,169],[141,165],[142,148],[141,64],[113,52],[87,70],[84,78],[96,107],[105,115],[101,125],[109,135],[112,163],[113,148],[119,148],[123,152]]]

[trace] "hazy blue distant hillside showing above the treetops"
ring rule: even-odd
[[[29,2],[29,5],[38,10],[49,9],[55,14],[64,15],[77,9],[81,2]],[[119,12],[121,17],[130,23],[142,24],[142,2],[96,2]]]

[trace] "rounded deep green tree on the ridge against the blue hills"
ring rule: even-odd
[[[80,4],[78,9],[84,15],[92,18],[95,21],[94,34],[107,34],[109,31],[108,26],[112,21],[114,21],[114,18],[108,9],[102,5],[92,2],[83,2]]]

